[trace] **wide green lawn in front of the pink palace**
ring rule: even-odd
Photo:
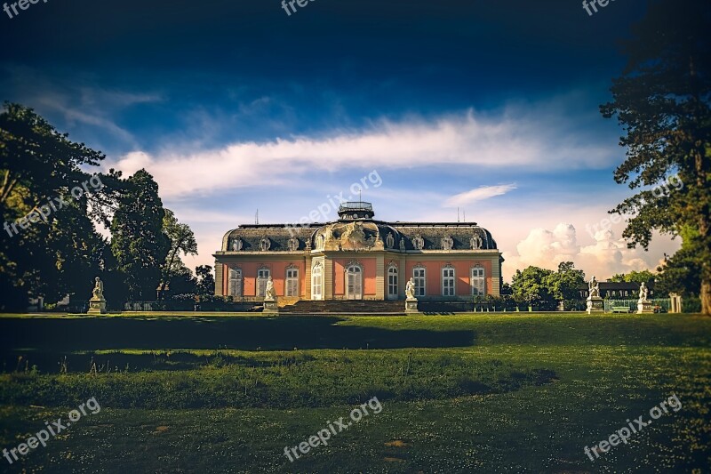
[[[101,406],[8,472],[711,470],[707,317],[0,317],[0,342],[0,447]]]

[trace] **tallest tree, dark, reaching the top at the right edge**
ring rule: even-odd
[[[630,189],[656,185],[611,210],[633,213],[623,237],[630,247],[646,249],[653,230],[682,236],[684,259],[699,269],[706,315],[711,314],[710,30],[708,2],[651,3],[623,43],[627,67],[612,80],[611,102],[601,106],[603,116],[617,116],[626,133],[620,145],[627,158],[615,181]]]

